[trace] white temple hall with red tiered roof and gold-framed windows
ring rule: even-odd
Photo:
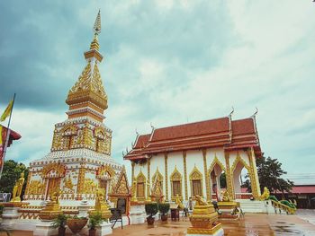
[[[152,127],[137,135],[131,162],[133,188],[138,202],[164,199],[184,202],[200,195],[220,200],[220,175],[226,176],[231,199],[260,196],[256,159],[262,156],[256,114],[232,120],[231,114],[174,127]],[[247,170],[252,193],[241,192],[240,174]]]

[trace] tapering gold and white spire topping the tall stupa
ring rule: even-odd
[[[98,64],[103,56],[100,54],[98,34],[101,32],[101,13],[98,12],[94,22],[94,39],[90,49],[85,52],[86,66],[75,85],[67,94],[68,118],[91,117],[103,121],[103,110],[107,109],[107,95],[103,88]]]

